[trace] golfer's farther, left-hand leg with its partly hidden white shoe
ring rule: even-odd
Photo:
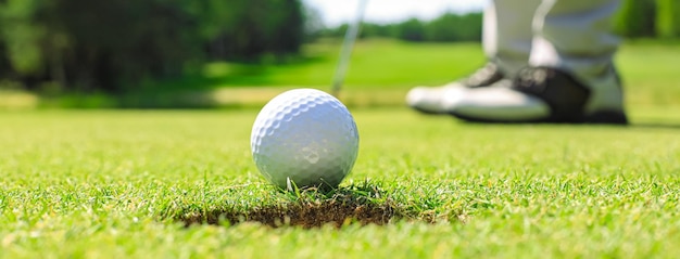
[[[443,87],[416,87],[406,103],[426,114],[448,114],[448,102],[471,88],[489,87],[514,77],[527,66],[532,17],[541,0],[496,0],[483,13],[483,49],[489,63],[470,76]]]

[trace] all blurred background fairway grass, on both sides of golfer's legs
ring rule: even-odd
[[[285,89],[329,90],[340,42],[305,46],[288,63],[264,66],[211,63],[178,80],[162,81],[164,92],[139,100],[155,106],[259,106]],[[680,44],[659,41],[625,42],[616,56],[631,105],[678,106]],[[343,89],[351,106],[402,105],[414,86],[438,86],[464,77],[484,63],[478,43],[408,43],[366,40],[355,46]],[[171,89],[168,91],[168,89]],[[244,91],[244,89],[250,91]],[[186,94],[186,91],[201,94]],[[178,94],[179,93],[179,94]],[[133,106],[139,101],[133,101]]]

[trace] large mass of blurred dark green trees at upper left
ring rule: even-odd
[[[207,59],[297,53],[300,0],[0,1],[0,75],[119,92]]]

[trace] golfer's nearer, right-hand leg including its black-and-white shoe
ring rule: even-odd
[[[467,91],[449,113],[490,122],[627,124],[613,65],[618,41],[609,31],[618,4],[544,0],[533,21],[530,66],[512,81]]]

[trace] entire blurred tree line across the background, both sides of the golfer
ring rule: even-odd
[[[616,31],[628,38],[680,35],[678,0],[624,0]],[[0,1],[0,88],[42,95],[122,94],[174,80],[209,62],[259,66],[299,61],[305,42],[340,38],[301,0]],[[481,13],[432,21],[366,23],[363,38],[479,41]],[[191,86],[185,86],[191,88]]]

